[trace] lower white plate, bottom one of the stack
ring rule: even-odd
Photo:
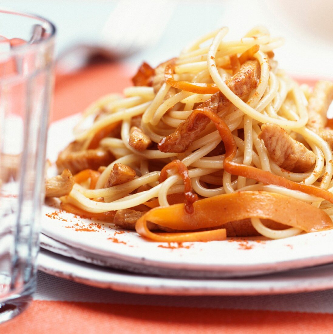
[[[103,268],[65,258],[45,250],[38,269],[99,288],[163,295],[265,295],[309,292],[333,288],[333,264],[262,277],[237,279],[185,279],[144,276]]]

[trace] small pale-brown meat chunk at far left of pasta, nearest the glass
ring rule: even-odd
[[[68,195],[74,185],[72,173],[65,169],[61,175],[51,177],[45,182],[45,197],[61,197]]]

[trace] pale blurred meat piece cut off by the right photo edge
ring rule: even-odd
[[[333,82],[320,80],[309,99],[309,121],[307,127],[321,136],[333,150],[333,130],[325,128],[327,110],[333,99]]]

